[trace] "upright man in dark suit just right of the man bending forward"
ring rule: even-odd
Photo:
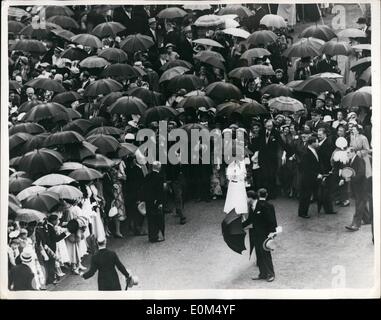
[[[327,130],[325,128],[318,129],[319,148],[317,150],[320,162],[320,169],[323,175],[327,175],[322,181],[322,195],[321,201],[326,214],[335,214],[332,206],[332,175],[331,172],[331,157],[335,150],[335,147],[331,141],[331,138],[327,136]]]

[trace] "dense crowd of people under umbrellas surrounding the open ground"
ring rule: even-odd
[[[148,231],[150,242],[164,241],[165,214],[186,224],[190,200],[226,197],[226,213],[247,214],[246,191],[265,188],[268,199],[299,201],[295,214],[308,218],[313,201],[335,214],[354,198],[347,229],[372,222],[370,79],[366,68],[350,68],[367,58],[370,66],[369,19],[357,21],[364,35],[345,40],[360,49],[345,54],[340,70],[332,54],[288,54],[299,41],[289,17],[277,16],[286,21],[277,28],[260,23],[270,6],[238,7],[225,20],[221,6],[10,12],[11,289],[43,290],[63,270],[80,274],[83,258],[106,237]],[[42,12],[46,25],[34,28]],[[207,23],[198,23],[203,16]],[[316,85],[303,89],[311,80]],[[365,98],[343,104],[353,95]],[[217,129],[233,140],[242,130],[245,157],[230,164],[142,164],[136,135],[151,128],[160,141],[159,121],[168,131]],[[211,146],[206,151],[213,153]],[[352,178],[342,175],[348,167],[356,171]],[[52,173],[73,179],[33,182]],[[45,188],[56,185],[73,186],[80,196]]]

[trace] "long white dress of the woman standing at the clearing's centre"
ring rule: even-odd
[[[226,169],[229,180],[224,212],[228,214],[235,209],[237,214],[247,214],[247,196],[245,188],[246,167],[244,161],[233,161]]]

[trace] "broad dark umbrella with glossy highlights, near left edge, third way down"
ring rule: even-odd
[[[65,118],[69,120],[67,109],[59,103],[42,103],[29,110],[23,117],[23,121],[38,122],[44,119],[60,120]]]

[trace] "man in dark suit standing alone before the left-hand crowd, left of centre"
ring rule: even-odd
[[[150,242],[164,241],[164,178],[160,174],[161,163],[154,161],[152,171],[144,178],[141,189],[141,200],[146,203],[146,214],[148,224],[148,240]],[[162,238],[159,238],[159,232]]]

